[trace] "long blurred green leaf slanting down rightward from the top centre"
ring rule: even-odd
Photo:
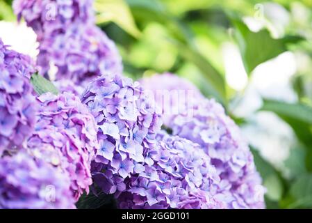
[[[157,0],[127,0],[137,20],[142,22],[159,22],[163,24],[170,38],[168,41],[179,50],[179,55],[194,64],[206,80],[207,92],[224,106],[227,106],[224,78],[215,69],[211,61],[199,53],[194,44],[194,33],[185,23],[167,12],[163,4]]]

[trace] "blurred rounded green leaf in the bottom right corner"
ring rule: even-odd
[[[303,174],[290,187],[290,196],[293,203],[288,208],[311,208],[312,207],[312,174]]]

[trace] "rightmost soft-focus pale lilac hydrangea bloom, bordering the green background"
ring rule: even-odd
[[[156,76],[153,84],[160,86],[163,83],[163,86],[166,86],[165,83],[170,82],[168,78],[170,77],[163,79]],[[185,90],[184,82],[174,77],[176,89]],[[190,87],[186,86],[186,89]],[[157,89],[151,90],[155,93]],[[172,134],[201,145],[205,153],[211,157],[211,162],[222,179],[222,183],[217,187],[217,193],[227,194],[226,197],[229,199],[227,208],[263,208],[265,190],[261,186],[261,178],[254,166],[252,153],[236,124],[215,100],[204,97],[190,100],[191,105],[184,107],[190,111],[187,114],[192,115],[168,114],[167,127],[172,129]],[[181,103],[185,101],[174,102],[176,105]]]

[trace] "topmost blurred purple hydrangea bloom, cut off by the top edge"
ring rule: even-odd
[[[93,0],[15,0],[13,9],[17,19],[23,17],[38,35],[38,40],[55,32],[65,32],[73,23],[95,22]]]

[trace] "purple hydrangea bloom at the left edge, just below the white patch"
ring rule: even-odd
[[[28,80],[33,72],[28,56],[0,40],[0,157],[5,149],[22,146],[34,129],[37,104]]]

